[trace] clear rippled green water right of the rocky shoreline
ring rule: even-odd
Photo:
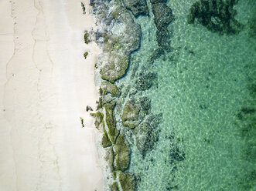
[[[256,2],[235,5],[235,18],[245,25],[237,35],[187,24],[193,2],[168,2],[176,18],[169,25],[173,51],[149,68],[157,72],[158,85],[138,92],[152,100],[152,113],[162,112],[159,142],[145,159],[134,146],[129,171],[140,176],[139,191],[256,190],[256,118],[246,112],[256,103],[256,36],[250,28]],[[157,47],[152,12],[136,22],[142,26],[142,45],[118,82],[131,89],[133,74]],[[177,148],[184,160],[172,160]]]

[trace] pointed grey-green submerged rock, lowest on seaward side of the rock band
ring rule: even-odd
[[[145,122],[142,122],[133,130],[136,137],[136,146],[145,158],[147,152],[151,151],[155,142],[159,140],[159,122],[162,119],[162,114],[149,116]]]

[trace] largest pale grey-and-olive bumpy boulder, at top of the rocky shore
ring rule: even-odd
[[[103,13],[98,19],[104,22],[97,34],[97,42],[103,46],[104,53],[98,57],[97,65],[100,66],[101,78],[113,83],[125,75],[131,52],[139,48],[142,32],[140,25],[119,1],[99,4]]]

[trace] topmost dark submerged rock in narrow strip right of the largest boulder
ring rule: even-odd
[[[166,31],[167,25],[174,20],[172,9],[165,3],[154,3],[152,4],[152,11],[155,15],[156,28],[159,31]]]

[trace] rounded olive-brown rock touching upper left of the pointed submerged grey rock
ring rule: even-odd
[[[151,102],[147,97],[129,100],[121,115],[123,125],[134,129],[148,115],[150,108]]]

